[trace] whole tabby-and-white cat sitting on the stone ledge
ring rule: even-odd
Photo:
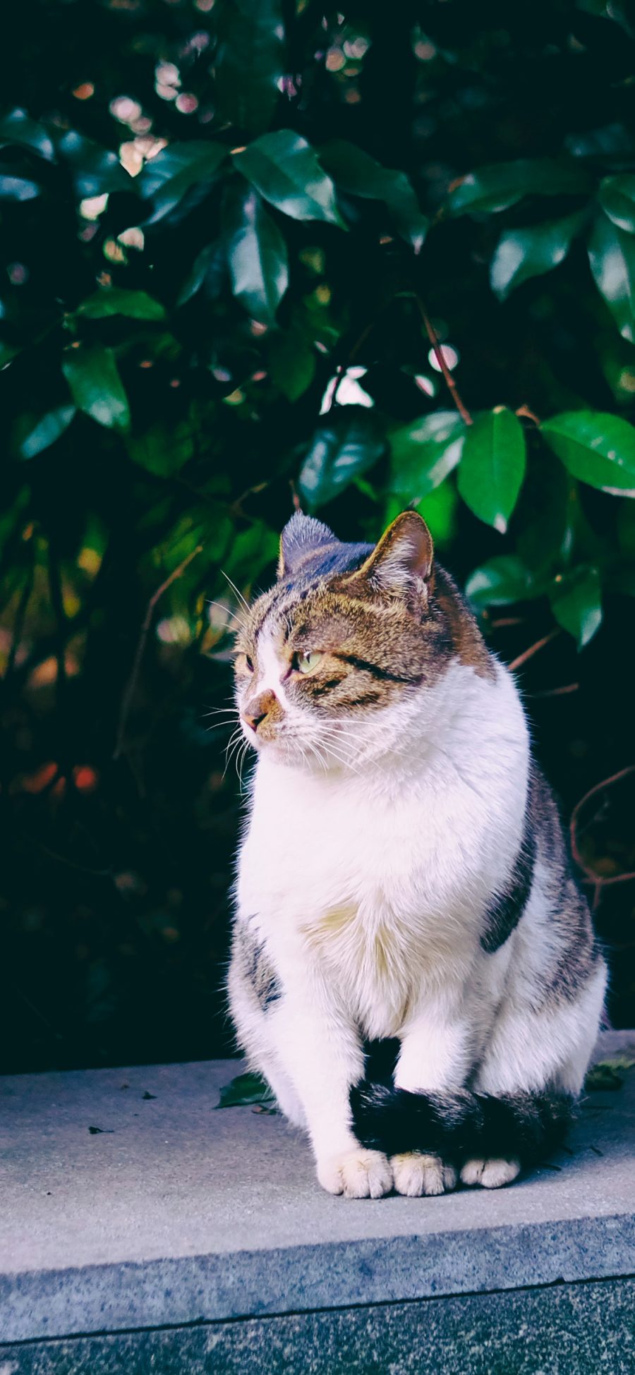
[[[606,968],[514,678],[422,517],[372,546],[294,514],[235,675],[249,1063],[330,1194],[509,1184],[566,1132]],[[370,1042],[396,1049],[378,1081]]]

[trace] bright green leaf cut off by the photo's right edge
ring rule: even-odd
[[[603,411],[564,411],[540,425],[573,477],[603,492],[635,496],[635,429]]]

